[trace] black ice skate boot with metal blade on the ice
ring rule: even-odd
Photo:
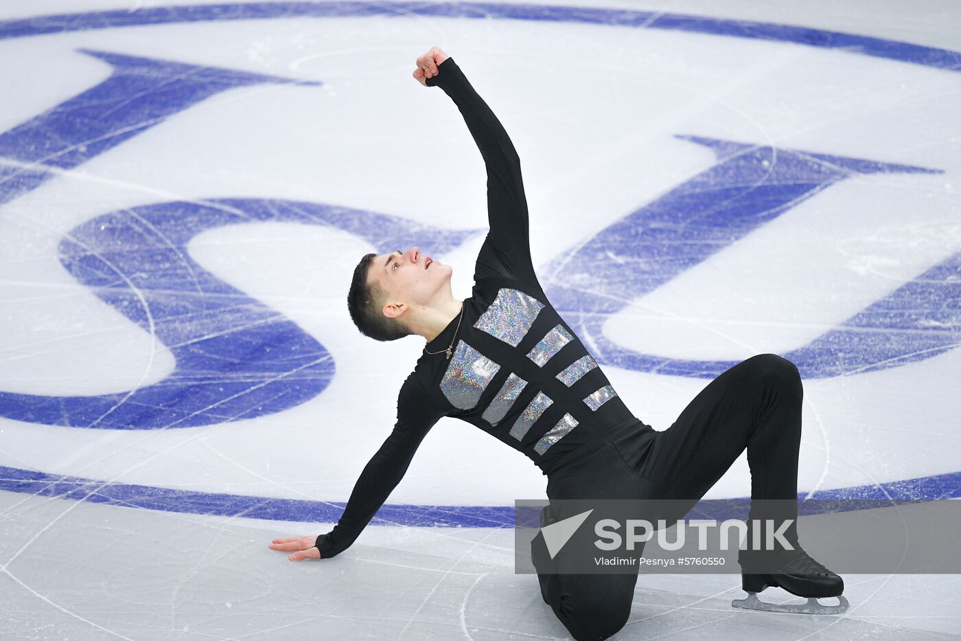
[[[791,612],[795,614],[842,614],[848,609],[848,600],[842,596],[844,579],[825,568],[801,546],[794,544],[794,551],[742,552],[741,585],[748,593],[747,599],[735,599],[734,607],[766,612]],[[772,567],[776,571],[771,571]],[[759,570],[768,572],[759,572]],[[807,603],[765,603],[757,593],[768,586],[781,587],[797,597],[806,597]],[[822,605],[818,599],[837,597],[837,605]]]

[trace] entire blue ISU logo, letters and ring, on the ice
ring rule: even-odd
[[[643,26],[763,38],[951,71],[961,69],[961,54],[957,52],[801,27],[671,13],[480,3],[251,2],[47,15],[0,22],[0,39],[176,22],[370,15]],[[319,84],[119,52],[82,53],[110,64],[111,76],[0,134],[0,203],[37,189],[58,171],[80,167],[220,91],[277,83],[302,86],[308,91]],[[717,164],[580,243],[563,265],[555,261],[539,269],[562,276],[552,279],[560,284],[550,285],[548,294],[573,327],[599,342],[597,355],[602,363],[688,376],[712,377],[722,372],[731,363],[664,359],[612,344],[604,339],[600,323],[623,309],[630,298],[651,292],[830,185],[859,174],[938,170],[744,141],[682,138],[711,149],[718,157]],[[766,165],[775,154],[776,166]],[[710,198],[703,194],[704,185],[714,190]],[[717,197],[719,194],[724,197]],[[252,418],[282,411],[320,394],[334,372],[326,348],[295,323],[202,269],[185,250],[189,240],[202,231],[262,220],[333,225],[365,238],[378,251],[417,242],[434,255],[442,255],[478,232],[424,227],[403,218],[322,203],[230,197],[202,203],[160,202],[105,213],[63,239],[62,264],[131,321],[156,332],[174,354],[176,371],[157,385],[119,395],[0,393],[0,416],[33,423],[156,429]],[[371,229],[377,230],[376,236],[365,231]],[[593,268],[587,269],[587,265]],[[959,344],[959,276],[961,254],[956,254],[810,345],[785,356],[798,363],[803,375],[810,378],[896,367],[943,353]],[[571,287],[584,280],[587,287]],[[616,295],[612,296],[612,291]],[[877,328],[897,330],[901,339],[888,341],[888,332],[872,331]],[[24,476],[23,482],[46,481]],[[935,490],[929,488],[927,493],[931,492]],[[123,502],[139,504],[133,495],[147,497],[150,493],[140,488]],[[190,501],[184,497],[164,504],[169,506],[160,506],[156,499],[148,503],[159,509],[251,513],[246,498],[204,497],[193,501],[192,507],[185,507]],[[257,507],[264,507],[264,501],[256,499]],[[404,518],[415,518],[416,510],[405,514]],[[394,522],[404,523],[404,519],[395,518]]]

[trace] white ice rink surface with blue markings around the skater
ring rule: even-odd
[[[357,333],[357,260],[417,244],[470,295],[485,174],[433,45],[638,418],[776,352],[806,496],[961,498],[961,4],[8,0],[0,639],[567,638],[504,520],[546,477],[454,419],[348,551],[267,549],[331,528],[423,347]],[[749,494],[742,457],[708,497]],[[642,575],[614,638],[961,636],[957,575],[845,581],[816,617]]]

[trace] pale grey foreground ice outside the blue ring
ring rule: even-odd
[[[12,500],[0,494],[0,511]],[[59,514],[58,503],[31,497],[21,505],[18,518],[4,522],[0,554],[21,548]],[[38,539],[8,569],[84,620],[0,574],[4,631],[20,635],[12,638],[44,638],[31,631],[41,615],[57,638],[96,640],[570,638],[541,600],[536,577],[513,574],[509,529],[376,527],[327,563],[293,563],[265,547],[278,533],[299,531],[289,524],[86,502],[60,524],[68,536]],[[816,617],[732,609],[742,594],[736,575],[642,575],[628,625],[614,638],[768,641],[830,630],[828,638],[922,641],[956,629],[946,616],[961,600],[955,577],[845,578],[849,612]],[[764,594],[799,601],[780,590]]]

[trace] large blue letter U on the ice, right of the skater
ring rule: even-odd
[[[650,294],[808,198],[856,176],[941,173],[940,170],[827,156],[695,136],[718,156],[653,203],[609,225],[543,273],[558,312],[589,337],[602,365],[637,372],[713,379],[739,361],[657,357],[620,346],[604,323],[632,300]],[[961,345],[961,254],[873,303],[807,346],[782,355],[801,376],[825,378],[901,367]],[[897,333],[899,340],[892,341]],[[586,340],[586,339],[585,339]]]

